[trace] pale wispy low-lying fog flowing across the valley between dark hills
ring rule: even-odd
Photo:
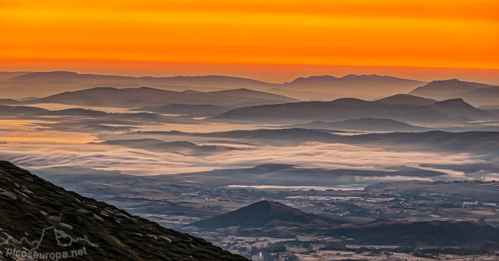
[[[157,175],[219,168],[253,167],[259,164],[293,164],[313,168],[386,170],[385,167],[421,163],[465,164],[482,162],[468,153],[389,151],[377,147],[307,141],[292,145],[252,146],[227,144],[238,149],[214,153],[180,154],[154,152],[118,145],[89,144],[99,142],[86,132],[37,130],[39,120],[1,120],[0,155],[3,159],[30,169],[47,166],[81,166],[120,170],[134,175]],[[221,131],[241,129],[241,125],[147,126],[147,130]],[[253,129],[255,126],[246,126]],[[151,128],[151,129],[149,129]],[[134,137],[135,138],[135,137]],[[216,138],[212,138],[216,139]],[[197,143],[213,145],[213,142]],[[242,148],[244,146],[244,148]],[[445,170],[443,170],[445,171]],[[453,173],[453,171],[448,171]]]

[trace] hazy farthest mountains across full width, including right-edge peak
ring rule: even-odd
[[[338,98],[369,100],[400,93],[448,100],[463,98],[475,107],[497,105],[499,87],[457,79],[430,83],[379,75],[329,75],[299,77],[286,83],[267,83],[247,78],[208,75],[175,77],[129,77],[116,75],[77,74],[74,72],[1,72],[0,99],[45,97],[65,91],[95,87],[119,89],[150,87],[170,91],[202,92],[251,89],[270,92],[305,101],[329,101]],[[164,104],[163,104],[164,105]],[[156,105],[153,105],[156,106]]]

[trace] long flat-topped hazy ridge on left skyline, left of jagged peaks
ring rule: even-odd
[[[11,77],[8,77],[11,76]],[[272,88],[270,83],[229,76],[176,76],[176,77],[130,77],[118,75],[78,74],[75,72],[30,72],[4,74],[0,90],[5,97],[45,97],[65,91],[77,91],[99,86],[115,88],[151,88],[185,91],[217,91],[227,89],[260,87]],[[256,89],[255,89],[256,90]],[[2,97],[3,98],[3,97]]]

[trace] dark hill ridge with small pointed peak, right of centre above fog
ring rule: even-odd
[[[342,98],[330,102],[298,102],[276,105],[245,107],[212,117],[218,121],[246,122],[300,122],[344,121],[360,118],[377,118],[406,123],[484,120],[497,115],[476,109],[462,100],[435,102],[430,105],[406,105],[407,96],[390,97],[377,101]],[[421,99],[412,98],[417,102]],[[387,102],[387,100],[389,102]],[[427,100],[424,100],[428,102]]]

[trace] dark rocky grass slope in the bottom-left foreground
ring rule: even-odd
[[[26,242],[18,244],[12,240],[23,237],[30,242],[42,238],[36,249],[38,253],[85,247],[86,254],[72,260],[246,260],[203,239],[65,191],[6,161],[0,161],[0,206],[0,260],[11,260],[4,259],[9,248],[33,248]],[[47,232],[42,235],[44,229]],[[12,239],[2,244],[7,235]],[[66,247],[58,245],[58,240],[67,244],[69,237],[85,240]]]

